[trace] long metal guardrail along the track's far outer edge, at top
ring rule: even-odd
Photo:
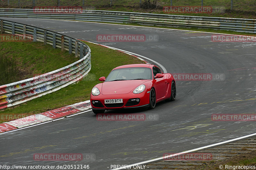
[[[256,20],[242,18],[215,18],[97,10],[81,10],[81,13],[36,13],[34,9],[0,9],[0,17],[137,23],[150,26],[212,28],[256,33]]]

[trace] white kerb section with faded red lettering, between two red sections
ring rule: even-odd
[[[26,127],[29,125],[42,123],[42,122],[49,121],[49,120],[52,120],[52,118],[37,114],[37,115],[27,116],[27,117],[17,119],[14,121],[10,121],[10,122],[6,122],[6,123],[9,125],[12,125],[14,127],[17,127],[17,128],[23,128],[23,127]]]

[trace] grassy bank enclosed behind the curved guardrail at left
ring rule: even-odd
[[[0,85],[35,77],[78,60],[74,54],[42,42],[0,42],[0,56]]]

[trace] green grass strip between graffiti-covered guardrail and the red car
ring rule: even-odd
[[[92,69],[83,80],[76,84],[62,88],[57,92],[28,101],[17,107],[7,108],[4,111],[0,111],[0,114],[38,114],[77,102],[89,100],[91,89],[94,85],[100,83],[99,78],[101,76],[107,77],[113,68],[120,65],[144,63],[131,55],[105,48],[100,45],[88,42],[85,43],[89,45],[92,50]]]

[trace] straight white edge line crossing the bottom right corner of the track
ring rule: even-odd
[[[219,143],[216,143],[216,144],[210,144],[210,145],[203,146],[203,147],[196,148],[196,149],[191,149],[191,150],[184,151],[184,152],[179,152],[179,153],[167,155],[167,156],[165,156],[165,157],[160,157],[160,158],[151,159],[151,160],[139,162],[139,163],[132,164],[132,165],[127,165],[127,166],[124,166],[123,168],[115,168],[115,169],[111,169],[111,170],[119,170],[119,169],[124,169],[124,168],[127,169],[128,167],[131,167],[131,166],[136,166],[136,165],[141,165],[141,164],[147,164],[147,163],[154,162],[154,161],[157,161],[157,160],[166,159],[166,158],[169,158],[169,157],[172,157],[172,156],[176,156],[176,155],[180,155],[180,154],[184,154],[184,153],[188,153],[188,152],[194,152],[194,151],[201,150],[201,149],[205,149],[205,148],[209,148],[209,147],[212,147],[212,146],[216,146],[216,145],[220,145],[220,144],[225,144],[225,143],[233,142],[233,141],[236,141],[236,140],[239,140],[239,139],[243,139],[243,138],[246,138],[246,137],[251,137],[251,136],[254,136],[254,135],[256,135],[256,133],[253,133],[253,134],[250,134],[250,135],[246,135],[246,136],[243,136],[243,137],[237,137],[237,138],[235,138],[235,139],[230,139],[230,140],[227,140],[227,141],[224,141],[224,142],[219,142]]]

